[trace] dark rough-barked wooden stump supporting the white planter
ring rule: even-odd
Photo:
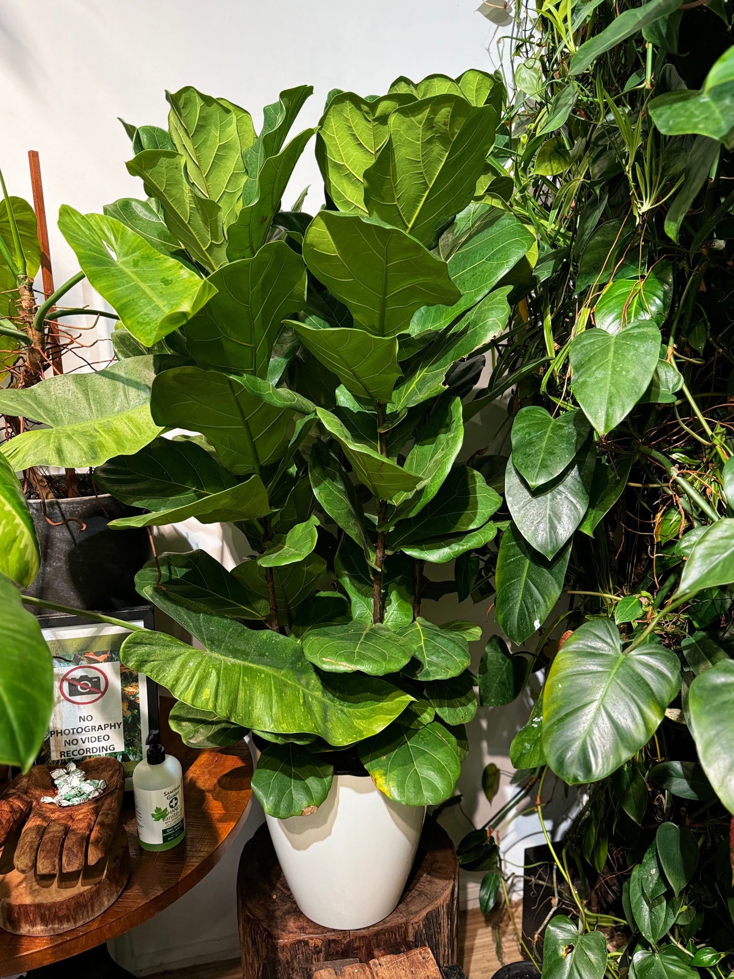
[[[237,878],[243,979],[313,979],[320,964],[367,963],[421,946],[427,946],[439,964],[454,962],[458,890],[459,866],[453,845],[428,818],[397,908],[369,928],[331,930],[298,909],[267,826],[261,826],[242,852]],[[377,974],[385,979],[399,975],[390,971]],[[431,973],[425,975],[429,979]],[[355,979],[361,979],[359,973]]]

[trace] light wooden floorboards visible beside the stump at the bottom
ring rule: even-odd
[[[522,909],[513,906],[513,915],[520,928]],[[491,979],[497,969],[507,962],[522,958],[515,932],[505,909],[482,914],[480,909],[462,911],[459,915],[459,960],[469,979]],[[239,959],[192,965],[186,969],[159,972],[148,979],[242,979]]]

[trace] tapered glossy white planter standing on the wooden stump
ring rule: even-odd
[[[311,816],[265,816],[298,908],[326,928],[366,928],[400,900],[426,810],[392,802],[364,775],[335,775]]]

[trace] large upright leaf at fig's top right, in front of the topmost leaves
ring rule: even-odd
[[[474,196],[496,118],[490,106],[450,94],[396,109],[388,141],[364,173],[369,213],[433,248]]]

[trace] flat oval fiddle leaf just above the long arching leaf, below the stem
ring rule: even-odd
[[[310,629],[303,637],[303,652],[328,673],[385,676],[402,670],[413,655],[413,643],[381,623],[355,621]]]

